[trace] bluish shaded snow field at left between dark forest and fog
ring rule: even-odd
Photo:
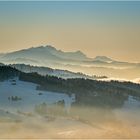
[[[71,97],[67,94],[39,91],[36,90],[36,84],[19,81],[17,78],[0,82],[0,108],[5,110],[22,110],[33,111],[35,105],[46,103],[48,105],[63,101],[65,103],[65,109],[68,110],[71,103],[74,102],[74,95]],[[13,101],[10,97],[20,97],[21,100]]]

